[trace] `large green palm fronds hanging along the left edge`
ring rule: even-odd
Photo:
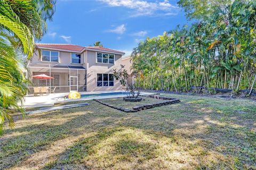
[[[33,55],[34,38],[41,39],[46,32],[54,6],[52,0],[0,0],[0,132],[5,120],[14,126],[13,109],[25,112],[18,105],[27,90],[23,56]]]

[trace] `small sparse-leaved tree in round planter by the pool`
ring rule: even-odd
[[[123,87],[125,87],[125,91],[129,92],[127,94],[128,98],[137,98],[140,95],[140,88],[138,88],[137,86],[135,86],[134,83],[129,83],[128,81],[128,73],[127,71],[124,69],[123,71],[116,71],[116,69],[113,70],[114,71],[114,78],[116,80],[119,80],[119,82],[121,83],[121,85]],[[136,74],[133,73],[133,75],[136,77]],[[137,94],[136,94],[137,92]]]

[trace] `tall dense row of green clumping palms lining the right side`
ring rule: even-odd
[[[191,86],[255,88],[256,1],[219,6],[190,27],[147,38],[133,49],[136,83],[179,91]]]

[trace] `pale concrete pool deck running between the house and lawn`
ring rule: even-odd
[[[81,92],[81,95],[90,95],[90,94],[103,94],[109,92],[125,92],[124,90],[109,90],[109,91],[93,91],[93,92]],[[42,96],[26,96],[25,101],[23,102],[24,107],[44,107],[44,106],[53,106],[54,103],[68,102],[68,101],[81,101],[81,100],[92,100],[92,99],[106,99],[106,98],[116,98],[116,97],[125,97],[126,95],[109,95],[109,96],[91,96],[81,99],[64,99],[64,96],[67,96],[69,92],[59,93],[59,94],[50,94]],[[154,94],[152,92],[141,92],[141,95],[150,95]],[[20,104],[21,105],[21,104]]]

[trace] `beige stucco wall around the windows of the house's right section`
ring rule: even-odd
[[[113,70],[121,69],[121,55],[115,54],[115,64],[102,64],[96,62],[96,54],[92,51],[86,52],[87,69],[87,91],[105,91],[105,90],[121,90],[121,84],[118,80],[114,80],[113,87],[97,87],[97,73],[112,74]]]

